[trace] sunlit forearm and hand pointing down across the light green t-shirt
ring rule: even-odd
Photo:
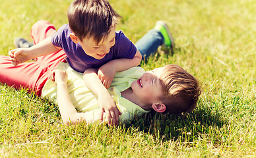
[[[89,90],[98,96],[99,106],[100,106],[100,120],[103,120],[104,112],[106,113],[106,120],[109,125],[117,125],[119,122],[119,115],[121,115],[119,109],[115,105],[115,101],[111,97],[108,90],[103,86],[102,82],[96,74],[97,69],[88,68],[84,71],[82,78],[84,79],[84,84]]]

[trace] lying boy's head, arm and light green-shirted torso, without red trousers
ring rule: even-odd
[[[89,68],[87,71],[95,70]],[[59,105],[64,124],[100,120],[98,98],[86,88],[82,74],[66,63],[59,63],[53,70],[53,80],[46,82],[42,97]],[[117,72],[108,91],[122,113],[119,115],[121,122],[152,110],[175,114],[190,112],[195,109],[201,93],[197,79],[177,65],[166,65],[148,72],[141,67]]]

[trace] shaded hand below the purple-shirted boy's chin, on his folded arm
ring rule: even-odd
[[[110,88],[115,72],[115,67],[108,64],[102,65],[98,70],[98,78],[107,89]]]

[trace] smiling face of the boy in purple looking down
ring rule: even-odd
[[[115,45],[115,26],[110,30],[110,34],[98,44],[92,37],[84,38],[82,41],[77,39],[84,49],[84,52],[95,59],[103,59],[110,52],[110,48]]]

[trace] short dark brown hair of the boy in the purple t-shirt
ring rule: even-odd
[[[99,43],[117,23],[117,14],[106,0],[75,0],[67,12],[69,27],[81,41],[94,38]]]

